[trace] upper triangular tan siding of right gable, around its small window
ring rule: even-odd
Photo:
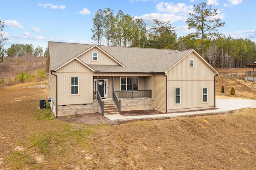
[[[190,68],[194,59],[194,68]],[[215,73],[194,53],[191,53],[167,72],[168,80],[214,80]]]

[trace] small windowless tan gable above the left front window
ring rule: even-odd
[[[93,70],[81,63],[77,59],[70,61],[69,63],[64,64],[62,67],[57,69],[58,72],[83,72],[83,73],[92,73]]]

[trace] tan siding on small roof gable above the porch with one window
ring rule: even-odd
[[[98,61],[92,61],[92,53],[98,53]],[[100,49],[94,47],[93,49],[87,51],[78,57],[86,64],[96,64],[96,65],[119,65],[116,61],[108,57],[105,53],[100,51]]]

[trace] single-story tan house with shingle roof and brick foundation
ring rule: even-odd
[[[218,71],[193,49],[48,42],[46,73],[56,116],[215,107]]]

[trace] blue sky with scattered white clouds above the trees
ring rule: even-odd
[[[147,27],[153,26],[152,19],[171,21],[180,37],[191,32],[186,18],[200,2],[212,4],[212,9],[218,9],[217,18],[226,22],[219,33],[256,42],[255,0],[0,0],[4,36],[9,37],[4,48],[22,43],[45,49],[48,41],[92,44],[92,19],[105,8],[113,10],[114,16],[122,10],[142,18]]]

